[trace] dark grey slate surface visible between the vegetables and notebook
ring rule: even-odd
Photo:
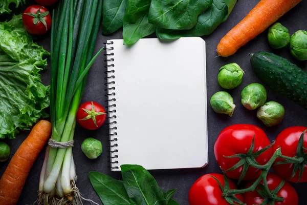
[[[27,5],[20,7],[15,10],[15,14],[19,14],[22,12],[27,6],[33,4],[33,1],[27,1]],[[280,125],[274,128],[266,128],[264,124],[256,117],[256,111],[249,111],[245,109],[240,104],[240,92],[243,88],[251,83],[261,83],[256,74],[252,71],[248,56],[249,53],[254,53],[257,51],[268,51],[279,54],[282,57],[286,57],[290,59],[293,63],[297,64],[299,67],[307,71],[306,63],[299,62],[295,60],[289,52],[289,48],[284,48],[281,50],[273,50],[268,46],[267,43],[267,31],[260,34],[256,39],[252,40],[243,48],[239,49],[239,51],[228,58],[217,57],[216,46],[221,38],[232,28],[234,27],[240,20],[242,20],[245,15],[258,3],[257,0],[249,0],[249,1],[239,1],[231,15],[229,16],[226,23],[220,25],[211,35],[204,36],[204,40],[206,41],[207,46],[207,95],[208,101],[210,97],[217,91],[223,90],[217,84],[217,73],[218,69],[225,64],[228,63],[237,63],[242,67],[245,71],[244,79],[242,85],[238,88],[229,91],[230,94],[234,98],[234,102],[237,105],[235,109],[234,116],[229,117],[227,115],[216,114],[213,110],[208,107],[208,142],[209,142],[209,164],[207,167],[203,169],[193,169],[193,170],[155,170],[150,171],[150,173],[157,179],[158,184],[164,189],[177,189],[176,194],[174,194],[173,198],[177,200],[180,204],[185,205],[188,204],[188,192],[193,182],[198,179],[203,174],[207,173],[221,173],[220,168],[218,167],[213,154],[213,146],[218,134],[227,126],[233,124],[253,124],[259,126],[264,129],[268,134],[271,140],[274,140],[275,137],[285,128],[290,126],[307,126],[307,110],[304,110],[300,106],[294,104],[292,101],[284,98],[282,95],[275,93],[271,89],[267,88],[268,91],[268,101],[274,100],[281,103],[286,109],[286,115],[281,122]],[[291,35],[297,30],[307,30],[307,1],[301,2],[298,6],[288,12],[286,15],[282,16],[278,22],[282,25],[286,26]],[[5,18],[10,18],[10,16],[2,16],[0,18],[1,21],[5,20]],[[155,37],[151,35],[150,37]],[[116,33],[103,36],[101,32],[99,32],[96,51],[98,51],[101,47],[103,47],[103,42],[107,39],[116,39],[122,38],[122,30],[117,31]],[[39,45],[42,45],[46,50],[50,51],[50,33],[40,36],[37,40]],[[148,48],[150,49],[150,48]],[[187,52],[189,52],[192,48],[185,48]],[[138,60],[139,56],[135,56],[135,60]],[[96,101],[97,103],[106,106],[104,96],[104,56],[101,55],[95,62],[90,71],[89,79],[87,80],[87,86],[85,89],[85,93],[82,99],[82,103],[85,101]],[[149,62],[150,63],[150,62]],[[50,61],[49,61],[50,65]],[[45,85],[49,85],[50,81],[50,69],[47,71],[41,72],[42,82]],[[183,108],[186,109],[186,108]],[[183,119],[183,121],[186,119]],[[157,121],[157,127],[164,126],[160,125],[159,121]],[[184,126],[184,125],[181,125]],[[193,129],[193,128],[191,128]],[[76,127],[75,131],[75,147],[73,149],[78,181],[77,186],[80,189],[80,192],[84,195],[85,198],[90,198],[101,204],[101,201],[95,191],[93,190],[90,180],[88,177],[88,173],[90,171],[98,171],[105,174],[108,174],[114,178],[121,179],[120,173],[111,173],[108,166],[108,158],[107,158],[107,145],[108,145],[108,126],[104,125],[98,131],[87,131],[81,128],[79,125]],[[26,138],[29,132],[21,132],[16,139],[6,141],[11,146],[11,156],[15,153],[16,149],[19,147],[21,142]],[[81,143],[87,137],[94,137],[102,141],[103,144],[103,153],[102,155],[96,159],[91,160],[87,159],[85,155],[81,151]],[[186,136],[186,140],[189,140],[189,136]],[[26,185],[24,187],[24,191],[20,196],[18,204],[32,204],[37,197],[37,188],[38,188],[38,180],[39,173],[43,162],[43,156],[45,154],[45,149],[40,153],[39,157],[35,161],[33,168],[29,174]],[[171,160],[171,153],[165,153],[165,160]],[[0,176],[5,171],[8,162],[0,164]],[[293,185],[298,192],[299,195],[299,204],[307,204],[306,199],[306,184],[294,184]],[[87,204],[87,202],[85,202]]]

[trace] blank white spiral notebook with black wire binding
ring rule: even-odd
[[[201,168],[208,163],[206,47],[199,37],[170,43],[108,40],[111,170]]]

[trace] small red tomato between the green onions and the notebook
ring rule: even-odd
[[[77,112],[79,124],[87,130],[97,130],[106,119],[104,108],[93,101],[82,104]]]

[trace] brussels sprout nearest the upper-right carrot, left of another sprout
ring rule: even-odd
[[[274,24],[269,29],[268,42],[275,49],[286,47],[290,42],[289,30],[280,23]]]

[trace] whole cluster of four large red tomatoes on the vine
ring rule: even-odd
[[[274,152],[280,148],[283,156],[297,157],[297,150],[300,136],[307,130],[307,127],[290,127],[283,130],[276,138],[275,144],[271,144],[266,133],[260,128],[253,125],[233,125],[224,129],[218,136],[214,145],[215,159],[222,170],[226,171],[226,175],[229,178],[239,179],[244,172],[244,165],[236,166],[236,169],[227,171],[235,165],[240,165],[240,160],[244,157],[253,157],[261,149],[266,149],[264,152],[258,152],[255,157],[255,161],[258,165],[266,165],[266,163],[273,156]],[[252,141],[253,146],[252,147]],[[303,136],[303,148],[307,147],[307,133]],[[307,150],[301,149],[303,153],[307,153]],[[252,151],[252,152],[249,152]],[[303,155],[302,153],[302,155]],[[226,157],[225,157],[226,156]],[[228,156],[233,156],[229,158]],[[235,156],[235,157],[234,157]],[[277,158],[275,162],[284,160]],[[243,160],[244,161],[244,160]],[[303,162],[302,162],[303,163]],[[306,168],[306,165],[301,165]],[[247,205],[261,204],[264,200],[272,200],[272,197],[277,201],[273,201],[278,205],[297,205],[298,195],[295,189],[285,180],[291,182],[306,182],[307,181],[307,169],[302,172],[299,179],[299,170],[293,175],[294,164],[284,163],[281,165],[274,165],[273,169],[276,174],[269,173],[267,175],[267,188],[269,188],[272,195],[268,196],[266,193],[269,191],[264,190],[264,181],[261,180],[257,185],[257,188],[252,192],[246,192],[243,194],[234,195],[237,199],[244,202]],[[248,180],[245,188],[249,188],[253,185],[252,181],[255,181],[261,174],[261,170],[248,167],[243,180]],[[217,179],[217,180],[216,180]],[[223,205],[229,204],[229,196],[224,194],[225,189],[237,189],[235,183],[228,179],[229,188],[225,188],[225,180],[222,174],[206,174],[200,177],[194,182],[189,192],[189,204],[190,205]],[[222,185],[222,188],[221,188]],[[224,190],[224,191],[223,191]],[[237,193],[237,192],[236,192]],[[282,198],[283,199],[282,199]],[[282,200],[279,200],[282,199]],[[271,201],[272,202],[272,201]],[[266,203],[266,202],[264,202]],[[266,204],[267,204],[266,203]],[[239,204],[234,201],[234,204]],[[271,204],[271,203],[270,203]]]

